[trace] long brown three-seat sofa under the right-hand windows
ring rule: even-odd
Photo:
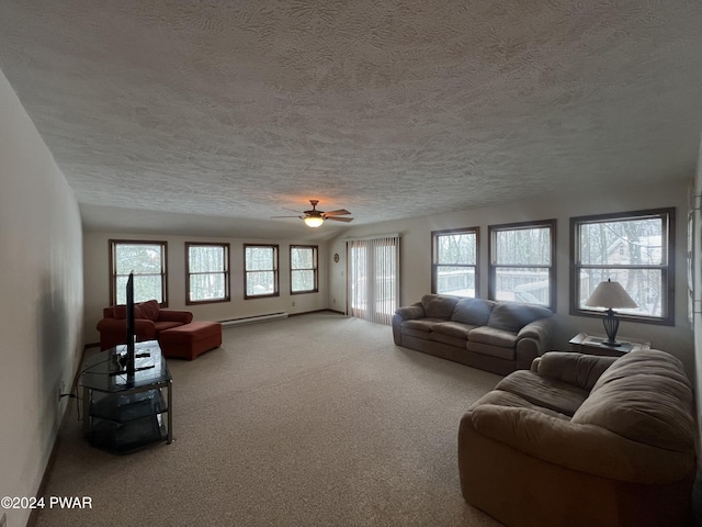
[[[426,294],[393,316],[395,344],[506,375],[548,350],[546,307]]]

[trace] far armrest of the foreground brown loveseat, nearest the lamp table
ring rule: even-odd
[[[548,351],[535,365],[535,372],[590,391],[616,357],[602,357],[569,351]]]

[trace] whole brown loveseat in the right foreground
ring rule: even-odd
[[[461,419],[461,490],[510,527],[686,526],[695,434],[671,355],[547,352]]]

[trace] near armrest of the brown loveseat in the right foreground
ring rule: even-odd
[[[466,427],[543,461],[619,481],[666,484],[695,467],[690,452],[650,447],[531,408],[479,405],[463,416],[462,434]]]

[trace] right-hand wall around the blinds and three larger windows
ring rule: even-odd
[[[693,175],[690,175],[692,181]],[[329,244],[329,253],[341,256],[339,264],[330,261],[328,299],[330,307],[346,309],[346,247],[343,238],[399,232],[400,240],[400,303],[417,302],[431,290],[431,232],[442,228],[479,227],[479,295],[487,298],[487,227],[492,224],[556,218],[556,332],[554,349],[569,349],[568,340],[580,332],[603,334],[599,318],[570,316],[569,311],[569,218],[600,213],[615,213],[643,209],[676,208],[676,324],[660,326],[622,322],[619,335],[650,340],[656,348],[679,357],[690,375],[694,371],[693,333],[687,315],[686,251],[687,251],[687,192],[689,182],[673,181],[656,187],[632,186],[630,189],[593,191],[589,195],[570,195],[523,200],[500,206],[386,222],[359,226],[347,231]]]

